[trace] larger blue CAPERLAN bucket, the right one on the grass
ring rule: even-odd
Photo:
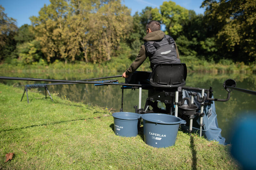
[[[145,143],[157,148],[174,145],[179,125],[186,124],[186,121],[179,117],[161,113],[147,113],[141,118]]]

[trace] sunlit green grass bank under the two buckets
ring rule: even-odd
[[[178,131],[174,146],[154,148],[142,127],[137,137],[116,136],[106,108],[31,91],[28,104],[22,93],[0,84],[0,169],[240,169],[230,146],[196,134]]]

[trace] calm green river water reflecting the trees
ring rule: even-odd
[[[64,74],[65,73],[65,74]],[[111,75],[119,75],[122,73],[97,73],[92,72],[85,74],[83,72],[71,72],[63,71],[54,73],[47,71],[43,73],[17,73],[8,72],[1,76],[11,77],[29,77],[29,78],[43,78],[43,79],[58,79],[58,80],[82,80],[86,78],[104,77]],[[123,78],[114,78],[108,80],[119,80],[124,82]],[[250,89],[256,91],[256,75],[246,74],[210,74],[210,73],[188,73],[186,86],[198,87],[209,89],[211,86],[214,98],[226,99],[227,91],[223,88],[223,82],[226,79],[234,79],[236,81],[236,87],[242,89]],[[17,88],[24,89],[25,84],[34,83],[50,83],[50,82],[32,82],[32,81],[7,81],[0,80],[4,84],[13,86],[19,85]],[[122,90],[121,86],[94,86],[93,84],[69,84],[69,85],[51,85],[48,86],[51,94],[56,94],[60,97],[67,98],[70,101],[82,102],[89,105],[97,105],[100,107],[108,108],[111,111],[119,111],[121,108]],[[44,97],[44,89],[33,89],[42,93]],[[29,96],[29,91],[28,91]],[[48,95],[47,95],[48,96]],[[148,96],[147,90],[142,90],[142,108]],[[20,96],[21,98],[21,96]],[[20,98],[17,98],[17,102],[20,102]],[[49,96],[47,97],[50,100]],[[33,104],[33,100],[29,98],[30,104]],[[54,100],[54,96],[53,96]],[[226,138],[226,142],[230,142],[229,134],[232,132],[234,121],[239,118],[243,119],[248,113],[256,114],[256,96],[247,93],[233,90],[231,97],[227,102],[215,102],[216,113],[219,127],[222,129],[221,135]],[[27,102],[26,96],[24,96],[22,102]],[[124,89],[124,111],[134,112],[133,106],[139,103],[139,90]]]

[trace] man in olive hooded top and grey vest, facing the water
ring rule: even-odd
[[[160,30],[158,21],[150,21],[146,25],[147,35],[143,38],[140,52],[131,66],[123,73],[124,78],[129,77],[149,57],[151,69],[158,63],[180,63],[180,56],[175,41]]]

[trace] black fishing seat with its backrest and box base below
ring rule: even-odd
[[[185,86],[187,78],[186,64],[157,64],[152,70],[148,89],[148,98],[144,107],[145,113],[167,113],[173,111],[175,91],[179,91],[179,101],[182,99],[181,86]],[[157,103],[165,104],[165,110],[158,108]],[[148,110],[149,106],[153,109]]]

